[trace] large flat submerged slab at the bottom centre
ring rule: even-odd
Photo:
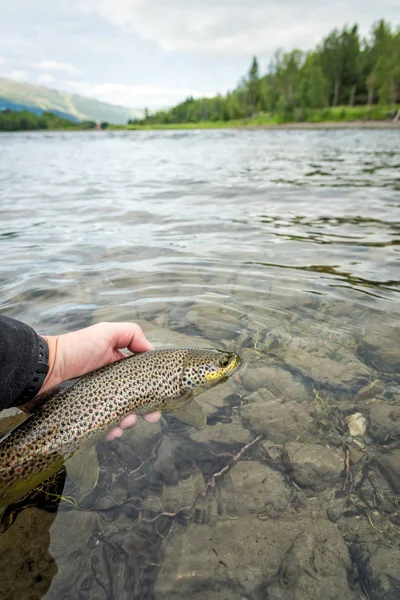
[[[278,576],[282,559],[302,524],[304,527],[304,521],[248,516],[217,521],[213,527],[175,525],[165,543],[156,597],[187,600],[204,590],[215,593],[221,587],[234,589],[236,597],[260,594]]]

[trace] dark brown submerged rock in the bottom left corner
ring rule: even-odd
[[[25,508],[0,537],[1,600],[40,600],[57,566],[49,554],[55,514]]]

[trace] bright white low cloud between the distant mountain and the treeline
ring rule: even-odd
[[[68,86],[84,96],[98,98],[103,102],[149,108],[166,107],[176,104],[188,96],[214,96],[213,92],[194,92],[189,89],[168,88],[155,85],[124,85],[118,83],[91,84],[81,81],[68,81]]]

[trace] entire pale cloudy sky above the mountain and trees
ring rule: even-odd
[[[131,108],[234,89],[253,55],[400,24],[398,0],[0,0],[0,77]]]

